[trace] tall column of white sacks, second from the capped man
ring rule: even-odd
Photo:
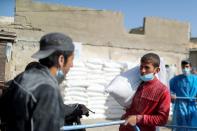
[[[105,78],[103,78],[104,72],[103,61],[99,59],[89,59],[85,63],[88,74],[88,108],[95,112],[95,114],[90,113],[89,119],[91,118],[104,118],[103,115],[106,107],[104,106],[106,96],[104,93],[104,85],[107,83]]]

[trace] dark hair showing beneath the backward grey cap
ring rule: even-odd
[[[46,58],[43,58],[43,59],[40,59],[39,62],[40,62],[40,64],[42,64],[42,65],[44,65],[48,68],[51,68],[52,66],[57,66],[58,65],[58,58],[59,58],[60,55],[64,56],[64,60],[65,60],[65,63],[66,63],[68,57],[71,56],[72,54],[73,54],[73,51],[57,50],[53,54],[51,54],[50,56],[48,56]]]

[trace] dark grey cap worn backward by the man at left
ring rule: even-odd
[[[73,41],[69,36],[57,32],[49,33],[41,37],[40,50],[33,54],[32,57],[43,59],[57,50],[72,52],[74,48]]]

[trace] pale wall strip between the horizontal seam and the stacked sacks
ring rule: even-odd
[[[101,52],[102,51],[102,52]],[[149,52],[157,53],[166,64],[176,65],[177,73],[181,72],[180,62],[185,59],[187,55],[173,52],[165,52],[161,50],[143,50],[143,49],[125,49],[116,47],[105,47],[105,46],[91,46],[83,45],[82,47],[82,59],[88,58],[100,58],[108,59],[119,62],[132,62],[134,64],[139,64],[140,58]]]

